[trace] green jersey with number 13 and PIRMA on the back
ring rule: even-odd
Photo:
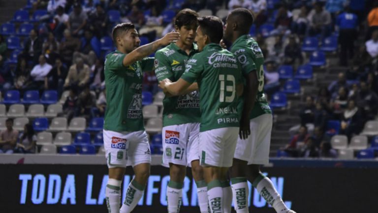
[[[232,53],[210,43],[188,61],[181,78],[189,83],[198,83],[199,131],[239,127],[236,85],[242,83],[242,71]]]

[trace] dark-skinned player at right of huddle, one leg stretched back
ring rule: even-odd
[[[252,175],[248,180],[277,213],[294,213],[285,206],[270,179],[260,172],[260,165],[269,162],[273,118],[263,92],[264,56],[257,42],[248,35],[252,23],[252,13],[237,8],[228,15],[224,31],[224,39],[233,43],[231,52],[242,65],[246,82],[244,101],[242,99],[240,103],[240,138],[231,168],[234,206],[237,213],[248,213],[246,170],[249,169]]]

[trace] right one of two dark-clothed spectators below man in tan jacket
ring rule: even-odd
[[[78,107],[79,111],[77,116],[82,116],[87,119],[87,121],[91,117],[91,110],[95,107],[96,104],[96,96],[91,93],[89,86],[84,87],[84,91],[79,95],[78,98]]]

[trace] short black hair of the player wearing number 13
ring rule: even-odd
[[[223,22],[216,16],[205,16],[198,19],[203,34],[209,36],[210,42],[219,44],[223,37]]]

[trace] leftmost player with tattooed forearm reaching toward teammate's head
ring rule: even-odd
[[[142,115],[142,70],[152,70],[154,59],[145,57],[180,35],[170,32],[141,47],[131,23],[117,25],[112,35],[117,50],[106,56],[104,68],[107,106],[103,138],[109,168],[105,196],[109,213],[130,213],[142,197],[150,175],[151,151]],[[129,165],[135,178],[127,187],[120,210],[120,188]]]

